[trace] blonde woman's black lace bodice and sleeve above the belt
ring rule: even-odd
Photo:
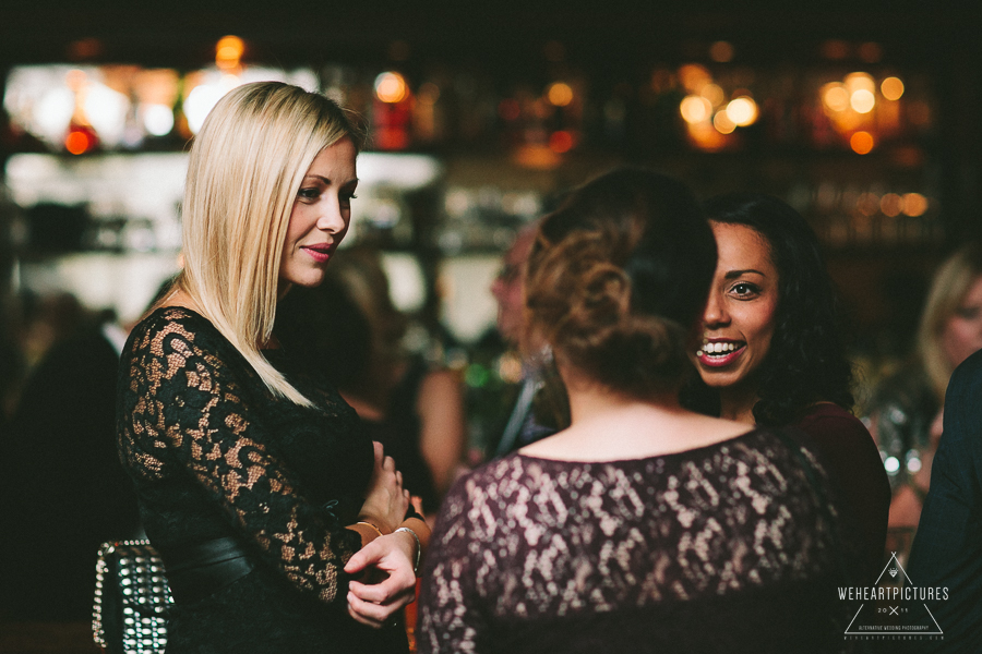
[[[211,323],[184,308],[141,323],[122,366],[120,455],[151,540],[233,534],[295,588],[343,598],[340,568],[360,538],[338,524],[337,499],[359,506],[372,465],[354,411],[288,371],[316,407],[273,397]]]

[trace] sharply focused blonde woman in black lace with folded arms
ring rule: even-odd
[[[176,602],[168,654],[407,650],[393,618],[426,523],[354,410],[273,330],[345,235],[360,145],[334,102],[270,82],[225,96],[191,148],[184,268],[133,329],[118,398]],[[356,581],[368,568],[382,573]]]

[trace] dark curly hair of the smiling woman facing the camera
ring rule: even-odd
[[[743,225],[764,237],[778,272],[774,336],[758,370],[754,419],[758,425],[793,423],[817,401],[852,410],[852,366],[846,358],[841,310],[818,239],[807,221],[776,197],[732,193],[709,199],[711,222]],[[694,380],[686,405],[719,413],[718,391]]]

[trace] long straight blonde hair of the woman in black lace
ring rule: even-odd
[[[261,352],[273,334],[279,262],[294,201],[318,154],[363,135],[335,102],[279,82],[246,84],[208,114],[191,147],[182,206],[184,267],[175,289],[252,365],[270,390],[310,400]]]

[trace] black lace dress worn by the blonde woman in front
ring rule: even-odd
[[[344,564],[372,444],[355,411],[283,351],[266,355],[312,409],[272,396],[204,317],[155,311],[130,336],[118,398],[120,456],[151,542],[173,549],[231,536],[255,569],[178,603],[168,654],[405,652],[405,630],[347,615]]]

